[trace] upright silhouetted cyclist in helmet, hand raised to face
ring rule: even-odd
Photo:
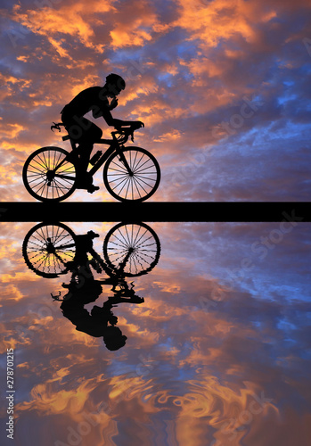
[[[61,120],[67,129],[70,138],[78,143],[78,155],[80,172],[82,178],[77,184],[79,188],[87,189],[93,193],[99,187],[93,186],[93,178],[86,175],[86,169],[90,160],[93,145],[102,137],[102,129],[97,127],[90,120],[86,120],[84,115],[92,111],[94,118],[102,118],[109,126],[120,128],[122,126],[132,126],[133,128],[143,127],[141,121],[116,120],[112,118],[111,110],[117,107],[117,95],[124,90],[126,83],[118,74],[110,74],[106,78],[103,87],[89,87],[81,91],[70,103],[65,105],[61,111]]]

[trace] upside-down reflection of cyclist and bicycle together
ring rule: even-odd
[[[160,259],[160,240],[144,223],[119,223],[105,237],[102,252],[94,249],[94,231],[76,235],[61,222],[39,223],[32,227],[22,244],[22,255],[28,267],[38,276],[60,277],[70,272],[70,282],[62,283],[65,294],[51,293],[53,301],[61,301],[63,316],[87,335],[102,337],[109,350],[124,346],[127,336],[118,326],[112,308],[120,303],[141,304],[144,298],[135,293],[134,282],[127,277],[145,275]],[[95,278],[104,273],[106,277]],[[85,306],[97,301],[102,285],[110,285],[110,295],[102,306],[91,311]]]

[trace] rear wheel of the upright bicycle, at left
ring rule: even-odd
[[[41,202],[61,202],[76,189],[75,165],[59,147],[42,147],[25,162],[22,179],[29,194]]]

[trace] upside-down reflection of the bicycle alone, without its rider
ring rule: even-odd
[[[23,257],[38,276],[58,277],[68,273],[76,260],[79,236],[62,223],[39,223],[24,239]],[[143,223],[119,223],[104,239],[105,261],[93,248],[89,252],[109,276],[122,268],[124,277],[137,277],[147,274],[158,263],[160,241],[153,229]]]

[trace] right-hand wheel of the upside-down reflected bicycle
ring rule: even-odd
[[[125,262],[125,276],[141,276],[158,263],[160,241],[153,229],[144,223],[119,223],[106,235],[103,255],[115,271]]]

